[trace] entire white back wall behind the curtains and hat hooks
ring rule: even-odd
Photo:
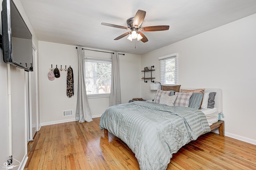
[[[77,49],[73,45],[39,41],[39,86],[40,86],[40,123],[48,125],[75,119],[78,82]],[[99,49],[98,49],[99,50]],[[111,53],[84,50],[87,57],[111,59]],[[102,51],[102,50],[101,50]],[[120,58],[121,100],[122,103],[141,96],[140,55],[125,54]],[[71,65],[74,72],[74,96],[66,96],[66,72],[54,81],[48,80],[49,68],[56,64],[60,68]],[[109,106],[109,97],[88,99],[92,117],[99,117]],[[73,109],[74,115],[62,117],[62,111]]]

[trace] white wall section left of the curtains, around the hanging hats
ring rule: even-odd
[[[60,121],[65,119],[74,119],[72,117],[63,117],[62,111],[73,109],[76,111],[76,87],[78,65],[76,48],[72,45],[63,45],[58,43],[48,43],[39,41],[39,91],[40,91],[40,123],[51,121]],[[51,65],[56,68],[67,69],[72,67],[74,73],[74,96],[66,96],[66,78],[67,71],[60,71],[60,77],[53,81],[48,79],[48,72]]]

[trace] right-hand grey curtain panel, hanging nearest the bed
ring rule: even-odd
[[[111,89],[109,106],[121,104],[119,54],[112,54]]]

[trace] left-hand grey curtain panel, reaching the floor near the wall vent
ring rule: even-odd
[[[84,51],[78,47],[78,95],[76,103],[76,121],[92,121],[92,113],[88,104],[84,83]]]

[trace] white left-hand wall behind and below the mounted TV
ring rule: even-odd
[[[2,2],[2,1],[0,1]],[[38,40],[34,34],[34,30],[28,21],[28,17],[24,12],[24,9],[20,3],[20,0],[14,0],[20,14],[25,20],[28,28],[32,32],[33,42],[37,46]],[[2,4],[2,3],[1,3]],[[0,5],[0,10],[2,10],[2,5]],[[1,20],[1,19],[0,19]],[[2,34],[2,26],[0,26],[0,32]],[[2,59],[2,49],[0,50],[0,108],[1,108],[1,118],[0,118],[0,164],[2,165],[9,158],[9,133],[8,133],[8,79],[7,79],[7,64],[4,63]],[[18,69],[11,65],[10,67],[10,87],[11,87],[11,105],[12,105],[12,155],[15,159],[19,161],[24,161],[27,156],[26,150],[26,113],[25,113],[25,71],[23,69]],[[23,164],[26,162],[22,162]],[[21,165],[22,166],[22,165]],[[21,167],[20,166],[20,167]],[[17,169],[18,167],[14,168]]]

